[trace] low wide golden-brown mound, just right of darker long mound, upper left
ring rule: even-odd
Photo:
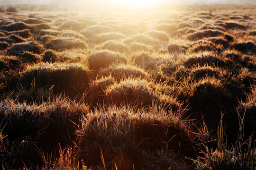
[[[86,43],[74,38],[54,38],[47,42],[46,47],[52,50],[86,48]]]

